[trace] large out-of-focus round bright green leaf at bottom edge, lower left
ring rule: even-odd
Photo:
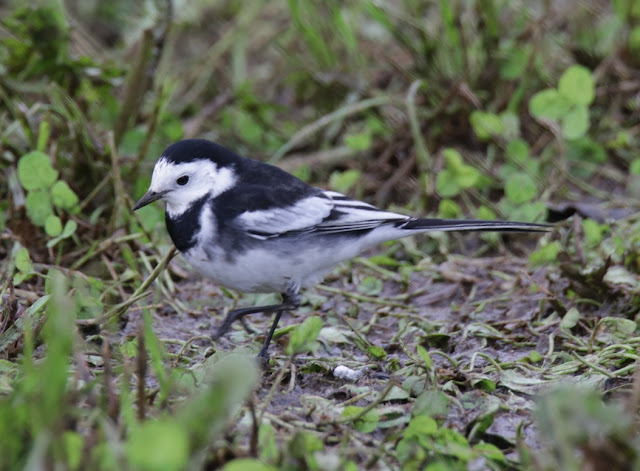
[[[189,461],[187,432],[170,419],[149,420],[133,428],[126,449],[133,467],[142,471],[177,471]]]

